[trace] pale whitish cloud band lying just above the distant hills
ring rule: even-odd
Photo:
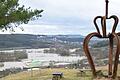
[[[23,27],[24,31],[20,28]],[[82,26],[55,26],[55,25],[21,25],[20,28],[14,28],[15,32],[5,31],[7,34],[45,34],[45,35],[59,35],[59,34],[81,34],[85,35],[84,32],[88,32]],[[4,32],[0,32],[4,34]]]

